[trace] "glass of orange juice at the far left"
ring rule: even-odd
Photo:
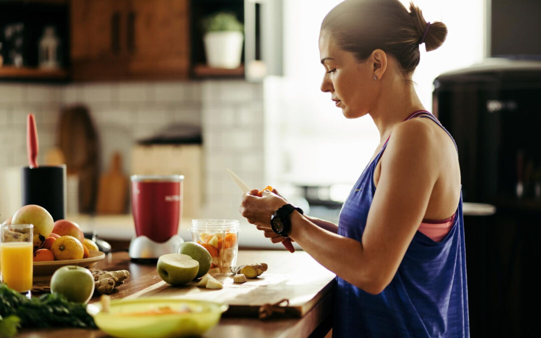
[[[0,243],[2,281],[11,289],[27,293],[32,289],[32,224],[3,224]]]

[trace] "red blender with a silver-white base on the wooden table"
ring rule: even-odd
[[[176,253],[184,242],[178,234],[182,214],[182,175],[132,175],[131,212],[135,237],[132,260],[155,260]]]

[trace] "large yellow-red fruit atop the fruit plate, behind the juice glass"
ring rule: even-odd
[[[11,224],[34,224],[34,251],[43,246],[45,238],[52,233],[55,222],[45,208],[28,204],[11,217]]]

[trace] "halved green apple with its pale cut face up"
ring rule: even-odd
[[[166,254],[160,256],[156,268],[164,282],[181,286],[194,279],[199,262],[184,254]]]

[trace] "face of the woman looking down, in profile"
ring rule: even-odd
[[[326,31],[319,36],[319,54],[325,67],[321,91],[331,93],[332,100],[347,118],[370,112],[377,96],[370,58],[357,61],[352,52],[338,48]]]

